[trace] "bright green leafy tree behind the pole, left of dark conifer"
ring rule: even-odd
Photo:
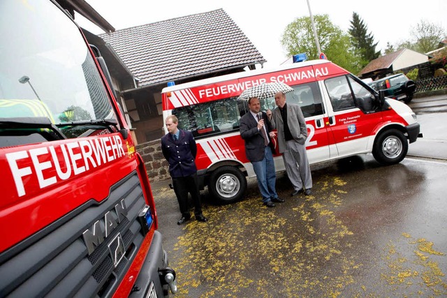
[[[361,69],[360,57],[351,47],[349,34],[332,24],[329,15],[314,15],[314,23],[321,52],[335,64],[358,73]],[[318,59],[310,17],[300,17],[288,24],[281,44],[290,56],[305,53],[308,59]]]

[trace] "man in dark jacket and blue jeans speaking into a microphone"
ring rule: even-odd
[[[240,135],[245,141],[245,154],[253,165],[258,179],[263,204],[274,207],[273,202],[284,202],[284,200],[278,197],[275,190],[277,176],[272,154],[274,147],[269,137],[270,124],[267,114],[261,112],[261,103],[258,98],[249,99],[249,109],[250,111],[240,119]]]

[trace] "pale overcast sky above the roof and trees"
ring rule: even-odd
[[[117,30],[223,8],[268,61],[266,65],[276,66],[288,59],[280,41],[284,29],[295,18],[309,16],[309,9],[307,0],[265,2],[87,0]],[[313,15],[328,14],[331,22],[346,32],[353,12],[358,13],[375,42],[379,42],[376,50],[384,50],[388,41],[395,45],[408,39],[411,27],[420,20],[437,24],[447,31],[446,0],[309,0],[309,3]],[[75,20],[92,33],[103,33],[78,14]]]

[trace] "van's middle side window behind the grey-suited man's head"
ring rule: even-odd
[[[294,91],[286,94],[287,103],[300,105],[302,114],[304,114],[305,117],[321,115],[324,113],[323,103],[321,103],[321,93],[316,82],[298,84],[291,87]],[[274,98],[268,98],[267,107],[270,109],[276,107]]]

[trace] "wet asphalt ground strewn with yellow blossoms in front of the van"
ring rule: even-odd
[[[400,164],[383,167],[368,154],[312,165],[308,197],[291,198],[278,174],[286,202],[275,208],[261,204],[251,179],[235,204],[214,204],[202,191],[209,221],[177,225],[170,181],[152,183],[176,296],[446,297],[444,98],[410,103],[424,136]]]

